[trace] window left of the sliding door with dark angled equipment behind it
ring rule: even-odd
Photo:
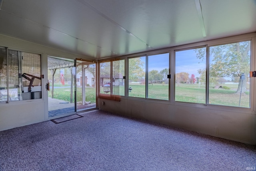
[[[6,58],[6,49],[0,51],[0,102],[40,99],[41,55],[8,50]]]

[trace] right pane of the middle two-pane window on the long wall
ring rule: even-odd
[[[169,99],[169,53],[148,56],[148,98]]]

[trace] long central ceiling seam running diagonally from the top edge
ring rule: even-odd
[[[140,42],[142,42],[143,44],[145,44],[146,46],[148,46],[149,48],[155,50],[154,48],[152,48],[149,44],[147,44],[146,42],[144,42],[143,40],[141,40],[140,38],[138,38],[137,36],[135,36],[134,34],[132,34],[131,32],[129,32],[128,30],[126,30],[124,27],[122,27],[121,25],[119,25],[117,22],[115,22],[114,20],[112,20],[111,18],[109,18],[108,16],[106,16],[105,14],[103,14],[102,12],[100,12],[99,10],[97,10],[96,8],[94,8],[92,5],[88,4],[87,2],[85,2],[84,0],[79,0],[82,4],[84,4],[85,6],[89,7],[91,10],[93,10],[94,12],[96,12],[97,14],[99,14],[100,16],[102,16],[103,18],[105,18],[106,20],[112,22],[112,24],[115,24],[116,26],[118,26],[120,29],[122,29],[123,31],[125,31],[126,33],[128,33],[130,36],[133,36],[134,38],[136,38],[137,40],[139,40]]]

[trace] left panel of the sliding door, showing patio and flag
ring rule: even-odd
[[[48,115],[75,112],[74,60],[48,56]]]

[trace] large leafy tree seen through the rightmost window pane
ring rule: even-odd
[[[250,41],[210,47],[209,77],[240,77],[236,93],[246,90],[247,75],[250,71]],[[198,59],[205,60],[204,49],[196,49]],[[244,80],[241,77],[244,74]]]

